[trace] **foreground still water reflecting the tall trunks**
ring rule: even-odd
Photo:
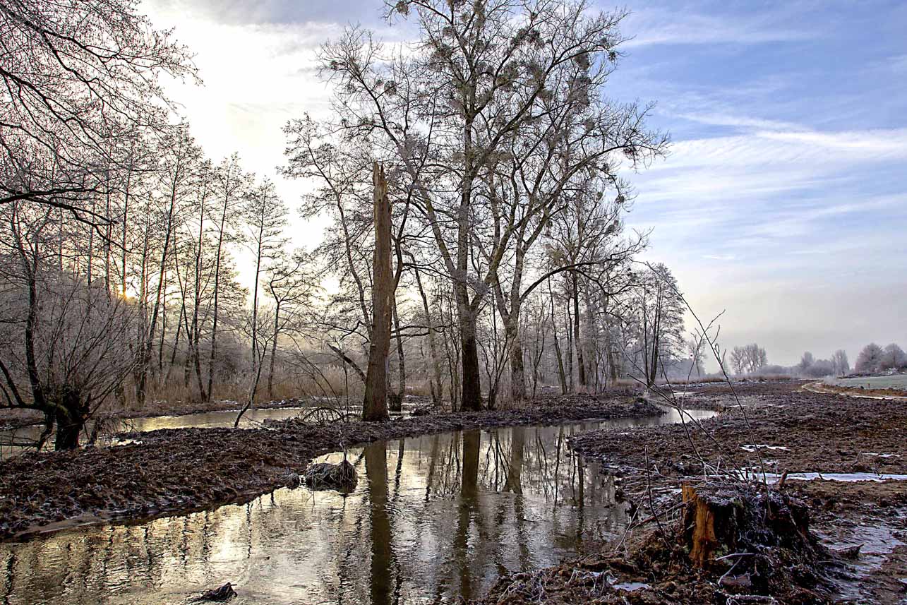
[[[555,564],[623,531],[626,505],[615,502],[613,478],[571,454],[571,434],[677,420],[476,430],[351,448],[359,481],[346,496],[281,489],[210,512],[0,543],[0,603],[184,603],[227,581],[236,584],[236,603],[479,596],[507,571]]]

